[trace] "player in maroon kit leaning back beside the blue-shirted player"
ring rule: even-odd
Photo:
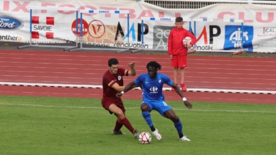
[[[122,126],[133,133],[133,136],[137,138],[139,132],[133,128],[128,119],[126,118],[124,104],[121,98],[117,98],[116,94],[124,89],[123,76],[135,76],[135,62],[128,64],[130,70],[119,68],[118,59],[112,58],[108,61],[109,70],[102,76],[102,107],[104,107],[110,114],[117,117],[115,122],[115,128],[111,131],[115,135],[125,135],[120,129]]]

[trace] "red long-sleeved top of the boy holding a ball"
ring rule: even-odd
[[[192,39],[190,44],[195,44],[195,36],[193,36],[193,34],[187,29],[184,29],[183,27],[181,27],[180,29],[178,29],[177,27],[171,29],[168,38],[169,55],[187,55],[188,48],[183,45],[182,40],[188,36]]]

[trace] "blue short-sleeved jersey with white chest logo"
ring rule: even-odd
[[[141,74],[135,79],[134,83],[139,85],[143,90],[143,100],[152,100],[159,102],[165,100],[163,95],[163,85],[173,85],[173,81],[169,79],[169,76],[157,72],[155,78],[150,78],[148,73]]]

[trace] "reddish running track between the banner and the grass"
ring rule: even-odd
[[[1,83],[47,83],[59,85],[102,85],[107,60],[115,57],[128,69],[135,61],[137,75],[147,72],[146,64],[157,61],[158,72],[173,79],[168,55],[126,53],[69,53],[52,51],[0,51]],[[180,75],[179,75],[180,76]],[[124,76],[125,85],[137,76]],[[179,80],[180,81],[180,77]],[[189,89],[235,89],[276,91],[276,61],[273,58],[188,56],[185,84]],[[165,86],[167,87],[167,86]],[[174,91],[163,91],[166,100],[181,100]],[[101,98],[102,89],[77,87],[35,87],[0,85],[0,94],[9,96],[59,96]],[[189,101],[275,104],[275,94],[225,92],[184,92]],[[141,90],[131,90],[123,98],[140,99]]]

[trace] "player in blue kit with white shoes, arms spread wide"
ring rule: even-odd
[[[192,109],[192,104],[184,97],[180,88],[174,84],[169,76],[165,74],[158,73],[158,70],[161,70],[161,65],[158,64],[156,61],[150,61],[147,65],[148,73],[140,74],[135,81],[128,83],[123,91],[116,94],[118,97],[121,97],[126,91],[135,87],[135,85],[139,85],[143,90],[143,101],[141,103],[141,111],[143,118],[150,126],[152,130],[152,134],[158,139],[159,141],[162,139],[161,135],[159,134],[158,130],[154,128],[152,123],[152,119],[150,117],[150,112],[152,110],[158,111],[163,117],[171,119],[174,122],[174,126],[178,131],[179,140],[180,141],[191,141],[186,136],[183,135],[182,132],[182,123],[179,117],[174,113],[174,110],[165,102],[165,97],[163,95],[163,85],[167,84],[173,87],[176,90],[176,93],[181,96],[185,106],[188,109]]]

